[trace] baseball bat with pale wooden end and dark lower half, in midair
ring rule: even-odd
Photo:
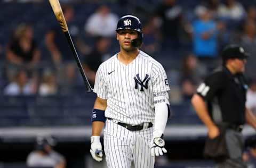
[[[82,64],[80,62],[80,59],[78,57],[78,54],[76,52],[76,48],[74,46],[74,43],[72,41],[72,38],[70,36],[70,33],[68,31],[68,25],[67,25],[67,22],[64,18],[64,15],[63,15],[63,12],[62,12],[62,9],[61,9],[61,6],[60,6],[60,2],[59,0],[49,0],[51,6],[52,6],[52,10],[56,16],[56,19],[58,20],[58,22],[60,23],[60,27],[63,31],[63,33],[65,34],[67,40],[68,40],[68,44],[73,52],[73,55],[75,57],[75,60],[76,60],[76,63],[77,63],[77,66],[79,68],[79,71],[81,72],[82,74],[82,77],[83,77],[83,80],[84,80],[84,83],[85,83],[85,87],[86,87],[86,90],[87,90],[87,93],[90,93],[92,91],[92,87],[84,73],[84,70],[83,70],[83,67],[82,67]]]

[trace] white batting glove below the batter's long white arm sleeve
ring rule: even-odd
[[[153,133],[154,134],[154,133]],[[162,156],[164,153],[167,153],[167,150],[164,148],[165,141],[161,138],[162,135],[155,135],[151,140],[151,156]]]

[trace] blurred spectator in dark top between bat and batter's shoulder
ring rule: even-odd
[[[110,41],[108,38],[98,37],[95,41],[93,51],[85,58],[84,70],[92,85],[94,84],[95,74],[100,64],[110,56],[107,53],[109,44]]]

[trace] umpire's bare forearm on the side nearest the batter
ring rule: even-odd
[[[202,97],[195,94],[191,99],[191,103],[194,106],[197,115],[203,121],[207,128],[210,129],[211,127],[215,126],[207,111],[205,102]]]

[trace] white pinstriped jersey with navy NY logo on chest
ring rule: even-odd
[[[103,62],[93,89],[98,97],[107,99],[106,117],[134,125],[154,122],[153,93],[168,90],[163,66],[142,51],[127,65],[117,54]]]

